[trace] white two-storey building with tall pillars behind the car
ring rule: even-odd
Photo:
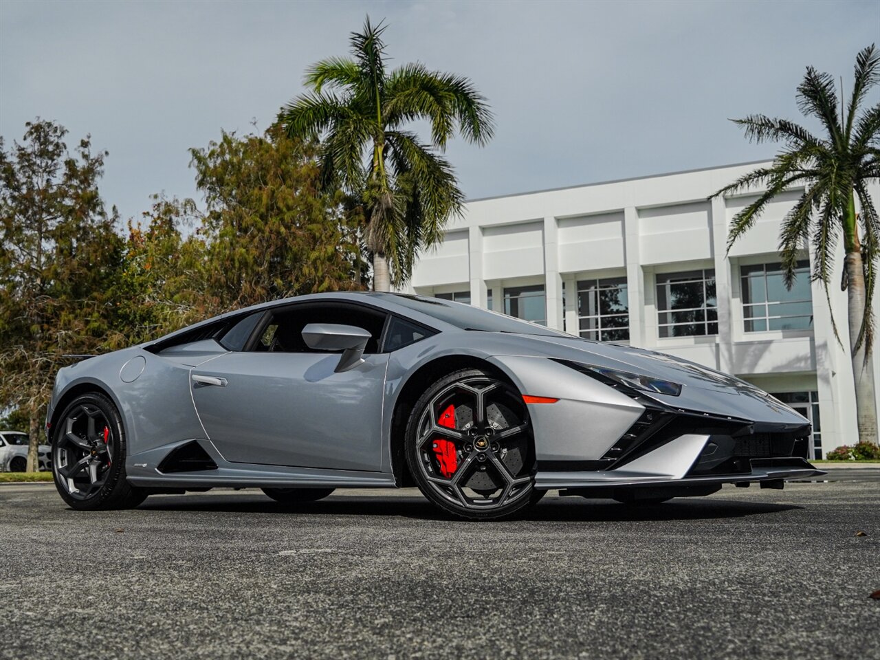
[[[754,195],[707,199],[757,165],[473,200],[422,255],[407,290],[736,374],[810,419],[810,458],[821,458],[857,440],[853,378],[806,249],[795,287],[781,282],[780,224],[801,191],[770,204],[730,254],[730,219]],[[832,305],[848,346],[838,286]]]

